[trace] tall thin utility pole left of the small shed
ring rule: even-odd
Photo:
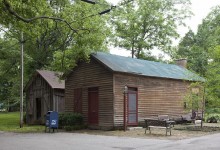
[[[23,39],[23,32],[21,32],[21,82],[20,82],[20,128],[23,128],[23,82],[24,82],[24,39]]]

